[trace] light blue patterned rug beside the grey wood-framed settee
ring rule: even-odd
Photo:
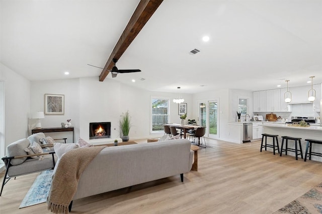
[[[19,208],[46,202],[51,186],[52,172],[52,169],[40,172],[25,195],[25,198],[22,200]]]

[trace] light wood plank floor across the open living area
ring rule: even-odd
[[[199,150],[198,171],[186,173],[184,183],[177,175],[129,192],[124,188],[78,199],[71,213],[272,213],[322,182],[321,162],[260,152],[260,141],[206,140],[212,148]],[[0,213],[50,213],[46,203],[18,209],[37,175],[5,185]]]

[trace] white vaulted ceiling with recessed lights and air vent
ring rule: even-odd
[[[1,0],[1,63],[32,81],[99,81],[102,70],[87,64],[104,67],[138,2]],[[142,72],[113,81],[151,91],[321,83],[322,0],[165,0],[117,67]]]

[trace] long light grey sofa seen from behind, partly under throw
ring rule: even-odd
[[[106,147],[82,173],[73,200],[178,174],[183,182],[193,164],[190,146],[178,139]]]

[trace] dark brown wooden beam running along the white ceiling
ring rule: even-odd
[[[113,59],[120,59],[125,50],[130,46],[132,41],[151,18],[156,9],[160,6],[163,0],[141,0],[136,7],[129,23],[124,29],[119,41],[116,43],[109,59],[107,60],[104,69],[100,75],[100,81],[104,81],[114,66]]]

